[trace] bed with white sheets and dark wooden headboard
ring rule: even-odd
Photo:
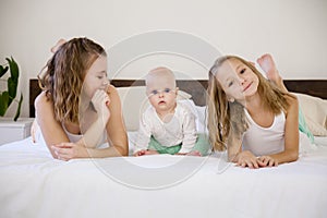
[[[33,117],[39,89],[36,80],[29,84]],[[133,144],[141,110],[125,104],[136,89],[144,98],[144,81],[112,84],[122,87],[124,114],[133,113],[125,118]],[[292,92],[327,98],[326,80],[286,84]],[[179,81],[178,86],[184,90],[181,100],[202,119],[207,81]],[[327,136],[315,142],[295,162],[251,170],[227,162],[226,153],[61,161],[25,138],[0,146],[0,217],[325,217]]]

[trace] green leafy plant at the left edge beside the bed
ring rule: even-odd
[[[12,102],[17,104],[16,113],[13,118],[16,121],[21,114],[21,107],[23,102],[23,94],[21,93],[20,100],[16,100],[16,93],[19,86],[20,69],[15,60],[11,58],[5,58],[7,62],[0,65],[0,82],[7,83],[7,88],[0,92],[0,117],[3,117],[11,106]],[[10,71],[8,71],[10,70]],[[8,78],[2,78],[10,72]],[[3,85],[5,87],[5,85]],[[1,84],[2,87],[2,84]]]

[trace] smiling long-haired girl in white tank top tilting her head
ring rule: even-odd
[[[270,66],[270,76],[279,78]],[[228,150],[230,161],[259,168],[298,159],[298,99],[251,62],[235,56],[219,58],[209,71],[208,96],[209,138],[216,150]]]

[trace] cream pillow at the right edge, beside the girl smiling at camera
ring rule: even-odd
[[[310,95],[294,93],[313,135],[327,136],[327,100]]]

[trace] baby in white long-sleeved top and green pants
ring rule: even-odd
[[[156,68],[146,75],[145,83],[150,106],[141,118],[134,156],[206,155],[208,143],[197,135],[194,114],[177,101],[179,88],[172,71]]]

